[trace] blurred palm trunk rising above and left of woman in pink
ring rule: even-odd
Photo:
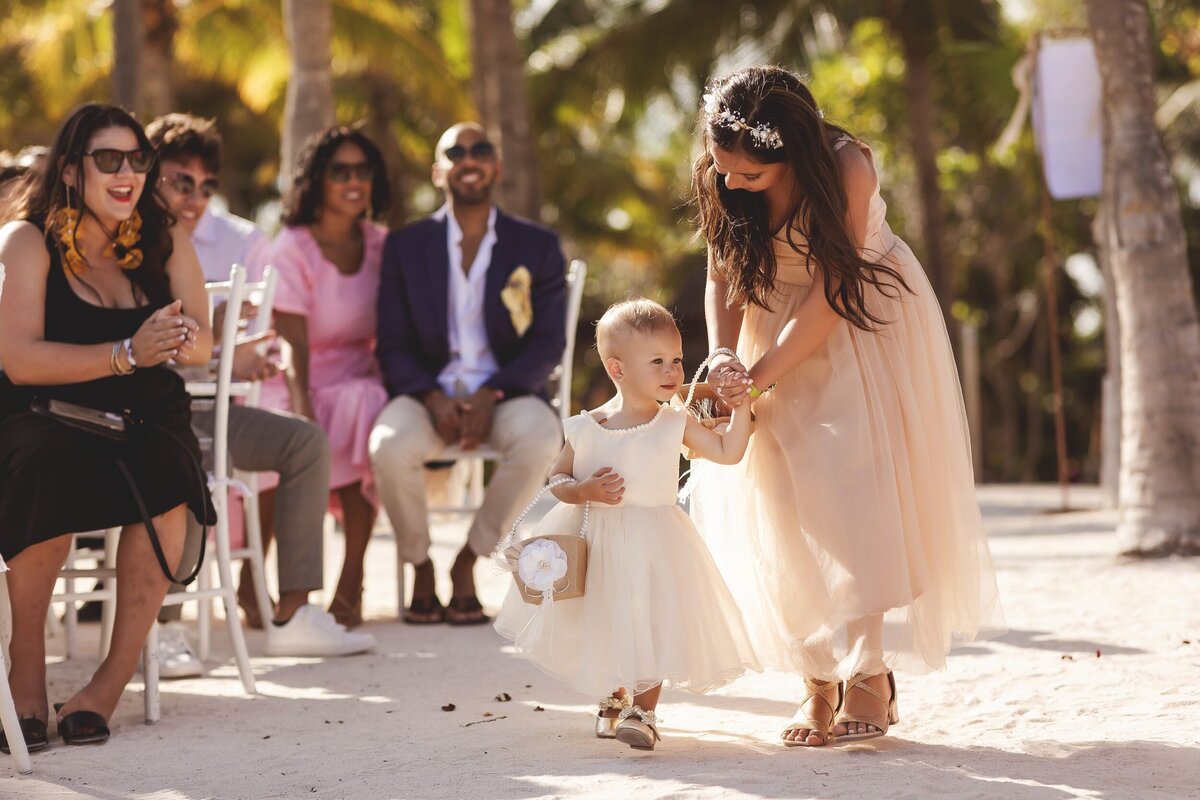
[[[334,79],[330,71],[332,17],[329,0],[283,0],[283,26],[292,52],[292,78],[283,106],[282,187],[305,139],[334,124]]]

